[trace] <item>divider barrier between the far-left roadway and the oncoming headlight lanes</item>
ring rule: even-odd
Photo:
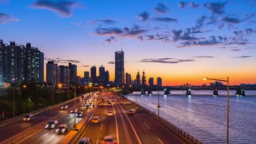
[[[76,98],[76,99],[78,99],[78,98]],[[83,103],[83,101],[80,102],[80,103]],[[80,103],[79,103],[79,104],[80,104]],[[69,107],[68,110],[71,110],[71,109],[73,109],[74,107],[75,107],[75,106]],[[68,110],[67,110],[67,111],[68,111]],[[57,115],[57,116],[55,116],[55,117],[49,118],[49,119],[60,120],[61,118],[63,118],[63,117],[66,116],[66,115],[67,115],[67,112],[61,113],[61,114],[59,114],[59,115]],[[43,121],[43,122],[41,122],[41,123],[35,125],[34,127],[30,128],[30,129],[28,129],[28,130],[26,130],[26,131],[23,131],[22,133],[20,133],[20,134],[18,134],[18,135],[15,135],[15,136],[13,136],[13,137],[10,137],[8,140],[4,140],[4,141],[0,142],[0,144],[2,144],[2,143],[4,143],[4,144],[5,144],[5,143],[8,143],[8,144],[9,144],[9,143],[21,143],[22,141],[27,140],[28,138],[32,137],[33,135],[35,135],[35,134],[39,133],[41,130],[43,130],[43,129],[45,128],[45,124],[46,124],[47,122],[49,122],[49,119],[47,119],[47,120],[45,120],[45,121]]]

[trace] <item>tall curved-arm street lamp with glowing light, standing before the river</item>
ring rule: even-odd
[[[226,143],[229,143],[229,77],[227,78],[220,78],[220,79],[210,79],[208,77],[202,77],[203,80],[216,80],[216,81],[224,81],[228,83],[227,90],[228,90],[228,97],[226,100],[227,108],[226,108]],[[223,80],[226,79],[226,80]]]

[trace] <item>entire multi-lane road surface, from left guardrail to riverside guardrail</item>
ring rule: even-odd
[[[89,99],[85,98],[85,100]],[[0,125],[0,143],[78,143],[83,137],[90,137],[93,143],[103,143],[104,136],[113,137],[114,143],[202,143],[166,119],[156,115],[132,101],[112,95],[110,92],[97,94],[95,108],[86,109],[83,100],[77,100],[77,109],[84,117],[77,118],[77,129],[73,130],[74,100],[68,101],[69,110],[61,110],[61,105],[34,115],[31,122],[16,121]],[[102,102],[104,99],[104,102]],[[101,106],[99,106],[99,104]],[[110,104],[108,104],[110,103]],[[139,107],[141,111],[136,111]],[[134,115],[127,111],[133,110]],[[108,116],[108,111],[113,116]],[[93,117],[99,117],[99,123],[91,123]],[[67,132],[56,134],[56,129],[44,129],[50,120],[67,124]]]

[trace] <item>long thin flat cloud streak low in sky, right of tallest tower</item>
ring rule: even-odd
[[[139,61],[140,63],[181,63],[181,62],[194,62],[194,59],[176,59],[176,58],[144,58]]]

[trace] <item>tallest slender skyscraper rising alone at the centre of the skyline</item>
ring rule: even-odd
[[[115,52],[115,84],[121,85],[125,82],[124,79],[124,52]]]

